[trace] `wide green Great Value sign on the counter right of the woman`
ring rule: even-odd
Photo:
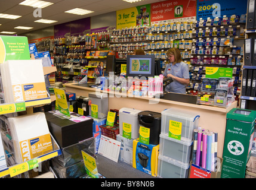
[[[209,67],[205,68],[205,77],[206,78],[220,78],[228,77],[232,78],[233,68],[222,68],[222,67]]]

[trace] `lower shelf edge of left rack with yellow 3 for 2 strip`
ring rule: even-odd
[[[17,176],[21,173],[27,172],[33,168],[38,167],[38,164],[44,162],[45,160],[52,159],[55,156],[59,156],[61,154],[60,147],[57,142],[54,140],[51,135],[51,141],[53,143],[53,151],[48,154],[44,154],[42,156],[36,157],[35,159],[30,159],[27,162],[23,162],[20,164],[14,164],[13,166],[9,166],[7,169],[0,170],[0,178],[10,175],[11,178]],[[8,154],[8,156],[13,155],[14,153]]]

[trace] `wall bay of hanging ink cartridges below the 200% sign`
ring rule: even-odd
[[[232,15],[232,19],[224,15],[220,19],[200,19],[195,25],[192,29],[193,44],[190,60],[192,78],[188,87],[189,94],[199,93],[202,78],[205,77],[203,71],[206,66],[218,66],[233,68],[235,81],[233,91],[238,98],[241,85],[239,73],[243,62],[242,42],[245,39],[245,23],[239,23],[236,15]],[[223,43],[226,41],[231,43],[226,45]]]

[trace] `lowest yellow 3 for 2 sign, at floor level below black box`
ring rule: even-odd
[[[82,157],[85,164],[86,172],[91,178],[98,178],[98,169],[96,160],[91,155],[85,153],[85,151],[82,150]]]

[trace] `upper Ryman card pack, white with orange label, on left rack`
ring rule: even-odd
[[[47,98],[41,60],[9,60],[0,64],[5,103]]]

